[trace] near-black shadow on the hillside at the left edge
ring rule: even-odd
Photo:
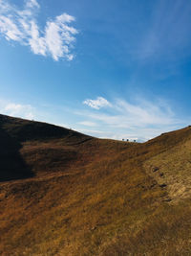
[[[0,182],[33,176],[20,155],[20,149],[20,143],[0,128]]]

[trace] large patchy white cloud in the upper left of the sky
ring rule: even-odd
[[[0,0],[0,35],[9,41],[30,46],[32,53],[51,56],[54,60],[72,60],[77,30],[71,26],[74,16],[62,13],[46,22],[44,32],[36,22],[40,6],[36,0],[27,0],[23,10]]]

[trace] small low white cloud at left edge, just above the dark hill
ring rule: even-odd
[[[32,105],[20,105],[0,100],[0,112],[21,118],[34,118],[34,108]]]

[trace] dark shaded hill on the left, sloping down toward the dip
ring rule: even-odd
[[[72,129],[0,115],[0,181],[35,175],[37,166],[42,172],[62,169],[77,156],[73,146],[90,139]]]

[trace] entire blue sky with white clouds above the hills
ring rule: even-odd
[[[0,113],[101,138],[191,124],[191,2],[0,0]]]

